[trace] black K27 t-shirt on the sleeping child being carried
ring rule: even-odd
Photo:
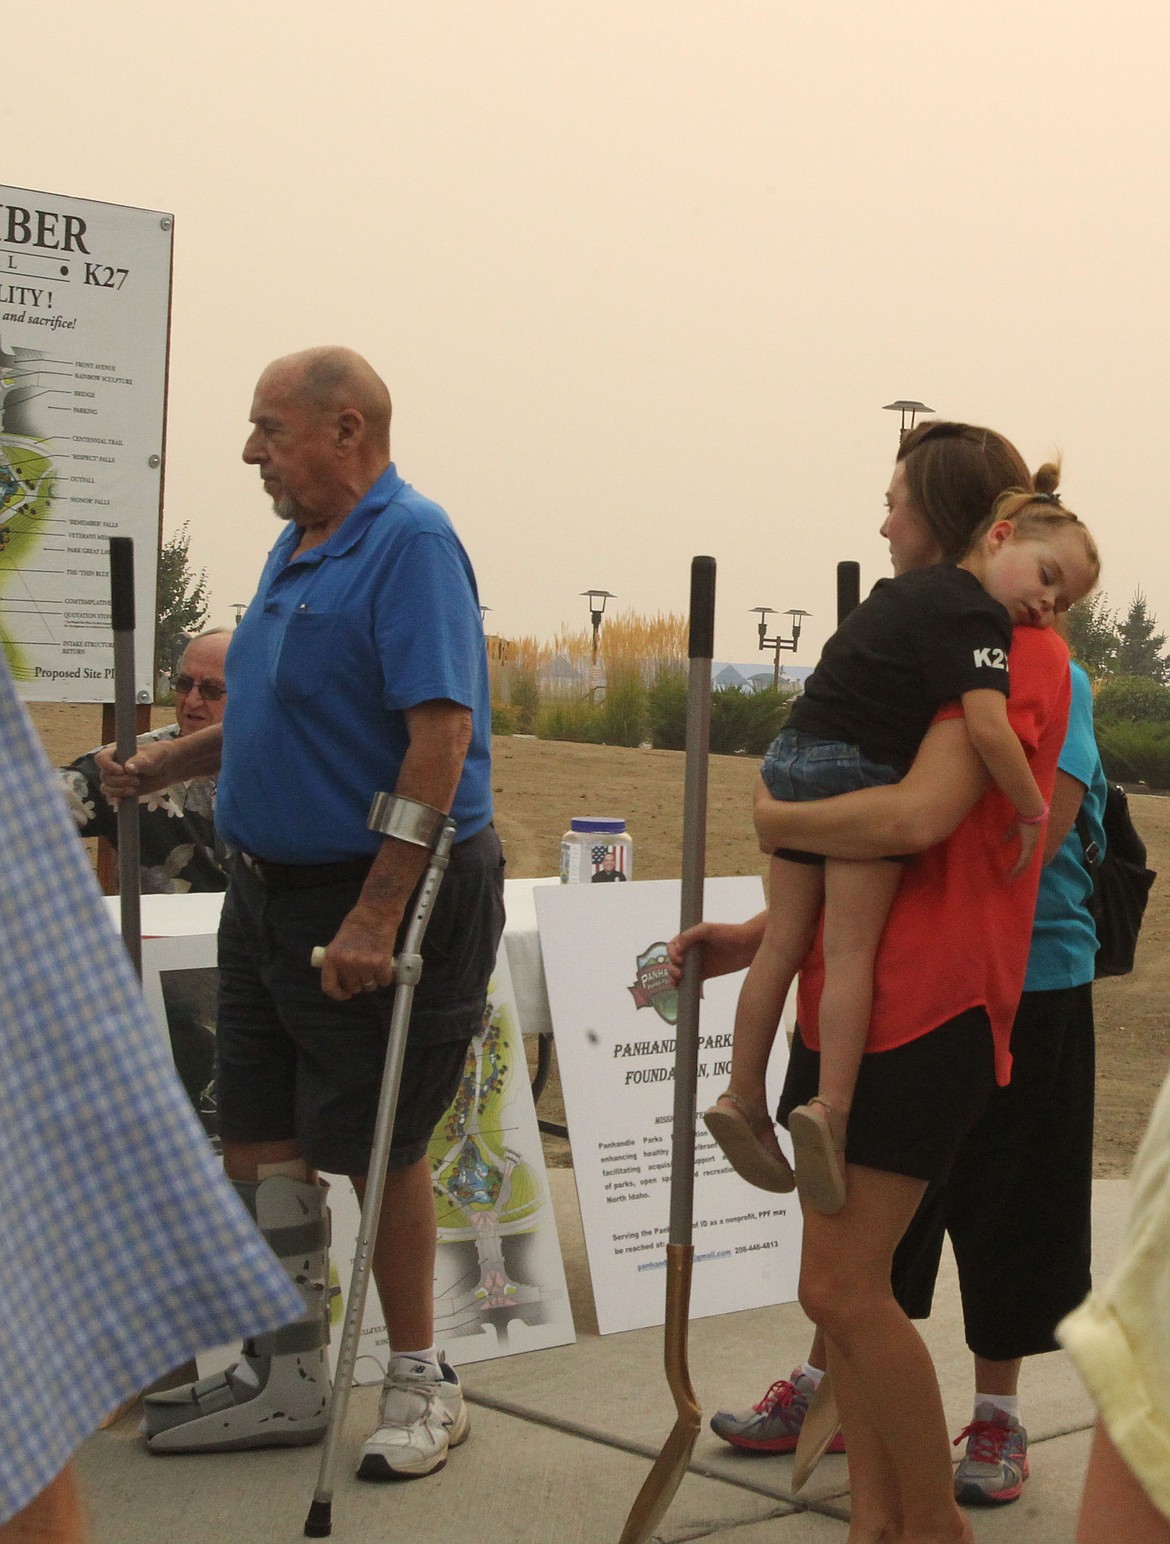
[[[979,687],[1008,696],[1009,648],[1006,607],[966,568],[878,579],[824,645],[789,729],[906,772],[943,703]]]

